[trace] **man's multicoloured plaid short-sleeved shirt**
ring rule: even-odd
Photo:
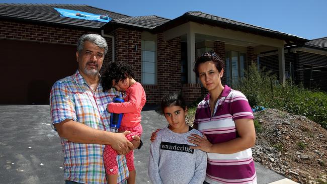
[[[94,92],[77,70],[74,75],[60,79],[52,86],[52,124],[71,119],[95,129],[110,131],[110,114],[106,106],[116,95],[114,92],[103,93],[100,83]],[[74,143],[65,138],[61,138],[61,145],[65,180],[106,184],[102,157],[105,145]],[[125,156],[117,156],[117,162],[118,183],[124,182],[129,174]]]

